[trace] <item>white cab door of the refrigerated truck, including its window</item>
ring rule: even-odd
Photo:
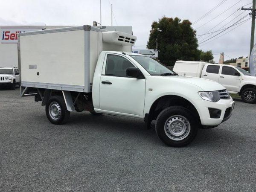
[[[145,79],[126,76],[128,67],[136,66],[122,55],[107,54],[99,86],[100,109],[143,116]]]

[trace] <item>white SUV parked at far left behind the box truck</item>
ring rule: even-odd
[[[0,87],[15,89],[20,83],[20,75],[17,67],[0,67]]]

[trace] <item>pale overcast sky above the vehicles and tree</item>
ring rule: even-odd
[[[93,21],[100,22],[100,0],[0,0],[0,2],[0,25],[77,26],[92,25]],[[219,35],[217,35],[219,32],[215,32],[209,34],[211,36],[197,36],[198,48],[203,51],[212,50],[215,62],[218,62],[221,52],[225,54],[224,60],[230,59],[229,57],[249,55],[250,11],[237,9],[252,3],[252,0],[102,0],[103,26],[111,25],[111,3],[113,25],[132,26],[133,34],[137,36],[134,49],[146,48],[151,23],[166,16],[190,20],[197,35],[205,34],[209,29],[211,29],[209,32],[215,32],[222,26],[227,28],[237,22],[238,25],[219,31],[221,32]],[[215,6],[218,7],[212,10]],[[250,6],[252,4],[245,7]],[[210,10],[212,12],[207,14]],[[196,22],[205,14],[207,15],[204,18]],[[241,19],[242,17],[244,18]],[[225,18],[227,19],[224,20]],[[241,20],[238,21],[239,19]],[[248,20],[245,23],[240,23],[246,19]],[[217,36],[211,38],[214,35]],[[219,37],[220,35],[223,36]]]

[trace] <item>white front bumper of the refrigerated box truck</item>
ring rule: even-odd
[[[235,102],[230,99],[220,99],[218,102],[209,102],[204,99],[190,99],[190,102],[195,106],[200,116],[201,124],[204,126],[217,126],[224,121],[227,121],[232,116],[232,111]],[[209,108],[219,109],[221,115],[219,118],[211,118]]]

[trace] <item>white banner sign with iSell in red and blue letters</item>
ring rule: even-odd
[[[30,31],[40,31],[42,28],[0,28],[1,43],[17,43],[18,34]]]

